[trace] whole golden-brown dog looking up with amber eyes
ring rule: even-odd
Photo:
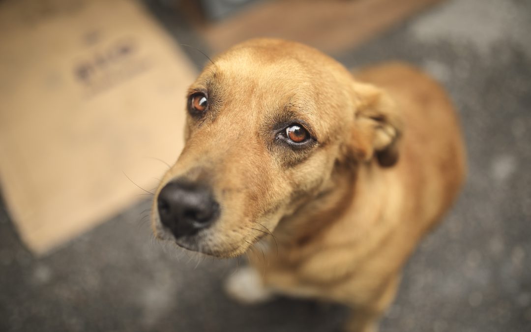
[[[463,181],[439,85],[401,64],[354,79],[318,50],[255,39],[205,67],[187,112],[185,148],[153,203],[156,236],[216,257],[261,246],[231,294],[340,302],[353,309],[346,330],[375,330]]]

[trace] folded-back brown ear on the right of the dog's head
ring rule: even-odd
[[[365,83],[354,83],[355,117],[350,153],[358,160],[376,158],[382,167],[398,160],[402,120],[395,103],[383,90]]]

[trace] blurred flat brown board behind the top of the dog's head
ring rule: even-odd
[[[303,42],[337,54],[443,0],[274,0],[220,22],[189,19],[215,52],[254,37]]]

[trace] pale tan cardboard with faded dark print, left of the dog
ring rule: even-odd
[[[195,72],[135,1],[4,1],[0,40],[3,196],[43,254],[156,185]]]

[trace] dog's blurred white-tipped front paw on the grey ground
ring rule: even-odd
[[[232,299],[245,303],[261,303],[271,299],[273,293],[264,287],[258,271],[251,267],[239,269],[227,278],[225,291]]]

